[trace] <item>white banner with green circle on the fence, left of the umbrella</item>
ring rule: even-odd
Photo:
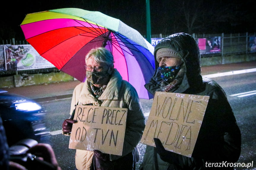
[[[29,70],[55,67],[31,45],[4,45],[5,70]]]

